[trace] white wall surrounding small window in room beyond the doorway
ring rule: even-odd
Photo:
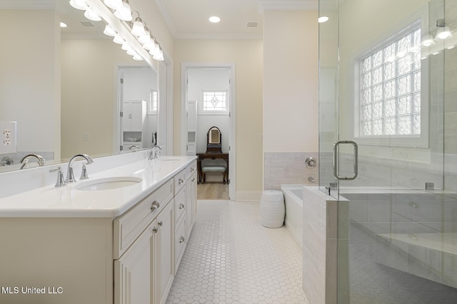
[[[229,90],[229,69],[189,68],[187,75],[188,99],[196,100],[197,111],[197,153],[206,152],[206,133],[216,126],[221,130],[222,152],[229,153],[230,120],[229,115],[204,115],[200,111],[201,90]]]

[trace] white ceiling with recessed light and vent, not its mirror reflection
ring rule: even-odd
[[[139,0],[130,0],[139,1]],[[154,0],[176,39],[261,39],[263,11],[317,9],[318,0]],[[211,16],[221,22],[211,23]],[[257,27],[246,24],[258,22]]]

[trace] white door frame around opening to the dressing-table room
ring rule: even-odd
[[[235,63],[181,63],[181,154],[187,151],[187,69],[188,68],[228,68],[229,85],[229,199],[236,197],[236,65]]]

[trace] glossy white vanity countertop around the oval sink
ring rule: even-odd
[[[139,177],[138,184],[118,189],[83,191],[76,184],[56,188],[46,186],[0,199],[0,217],[106,217],[123,214],[154,192],[196,157],[161,157],[141,160],[91,174],[89,180],[105,177]],[[76,174],[75,174],[76,175]]]

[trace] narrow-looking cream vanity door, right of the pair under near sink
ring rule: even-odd
[[[163,304],[169,294],[174,279],[174,202],[171,201],[157,217],[159,225],[159,282],[157,293],[159,303]]]

